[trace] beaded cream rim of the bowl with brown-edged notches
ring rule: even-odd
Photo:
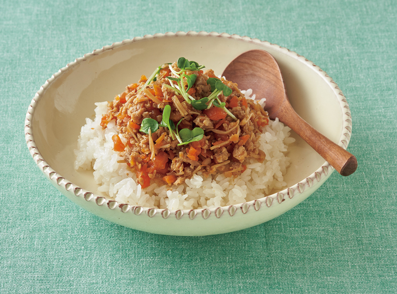
[[[270,207],[274,201],[277,201],[278,203],[282,203],[286,197],[292,198],[292,197],[297,197],[299,194],[302,194],[306,188],[312,187],[315,183],[319,182],[323,177],[328,176],[329,173],[333,171],[333,168],[328,162],[325,162],[323,166],[321,166],[316,172],[311,174],[310,176],[306,177],[305,179],[301,180],[300,182],[294,184],[293,186],[290,186],[288,188],[285,188],[284,190],[265,196],[260,199],[252,200],[249,202],[244,202],[240,204],[235,204],[235,205],[228,205],[228,206],[223,206],[223,207],[215,207],[215,208],[204,208],[204,209],[190,209],[190,210],[170,210],[170,209],[160,209],[160,208],[148,208],[148,207],[141,207],[141,206],[133,206],[128,203],[119,203],[115,200],[110,200],[107,199],[103,196],[96,195],[90,191],[87,191],[72,182],[68,181],[66,178],[62,177],[59,175],[56,171],[54,171],[51,166],[44,160],[42,155],[40,154],[39,150],[36,147],[33,135],[32,135],[32,120],[31,118],[33,117],[35,107],[36,107],[36,102],[40,100],[43,92],[49,85],[63,72],[68,70],[68,68],[72,65],[75,65],[77,63],[83,62],[87,59],[89,59],[92,56],[96,56],[98,54],[101,54],[102,52],[105,52],[107,50],[112,50],[116,47],[123,46],[126,44],[130,44],[136,41],[140,41],[143,39],[151,39],[151,38],[163,38],[163,37],[177,37],[177,36],[215,36],[215,37],[221,37],[221,38],[232,38],[232,39],[237,39],[237,40],[243,40],[245,42],[250,42],[250,43],[257,43],[257,44],[266,44],[266,46],[270,46],[278,51],[281,51],[282,53],[294,58],[298,59],[303,63],[306,63],[308,66],[312,67],[315,69],[315,71],[323,77],[323,79],[330,85],[332,88],[333,92],[336,94],[336,97],[338,98],[339,104],[342,108],[343,111],[343,134],[341,135],[338,145],[341,146],[342,148],[346,149],[347,145],[349,144],[350,141],[350,136],[351,136],[351,127],[352,127],[352,121],[351,121],[351,114],[350,114],[350,109],[347,104],[346,98],[344,97],[342,91],[339,89],[338,85],[331,79],[331,77],[323,71],[319,66],[314,64],[312,61],[306,59],[305,57],[290,51],[286,48],[280,47],[276,44],[271,44],[267,41],[261,41],[259,39],[252,39],[247,36],[239,36],[239,35],[230,35],[227,33],[216,33],[216,32],[194,32],[194,31],[189,31],[189,32],[176,32],[176,33],[165,33],[165,34],[154,34],[154,35],[145,35],[143,37],[135,37],[133,39],[129,40],[124,40],[122,42],[117,42],[113,43],[112,45],[109,46],[104,46],[102,49],[97,49],[94,50],[92,53],[85,54],[81,58],[75,59],[73,62],[70,62],[66,64],[65,67],[61,68],[57,73],[53,74],[51,78],[49,78],[43,86],[40,87],[40,90],[36,93],[34,98],[32,99],[28,111],[26,113],[26,118],[25,118],[25,140],[27,147],[29,149],[29,152],[31,156],[33,157],[34,161],[40,168],[40,170],[47,176],[55,186],[59,186],[61,189],[65,189],[68,192],[72,192],[76,197],[81,197],[84,198],[86,201],[93,202],[93,205],[99,205],[99,206],[107,206],[109,209],[114,210],[114,209],[119,209],[123,213],[127,212],[132,212],[135,215],[146,215],[148,217],[153,217],[156,214],[160,214],[162,218],[167,219],[169,216],[173,215],[177,220],[181,219],[183,215],[187,214],[188,217],[193,220],[196,218],[198,215],[201,215],[203,219],[208,219],[210,216],[215,216],[216,218],[220,218],[223,214],[233,216],[237,210],[241,210],[243,214],[247,213],[247,211],[250,208],[253,208],[255,211],[260,210],[260,208],[264,205],[267,207]]]

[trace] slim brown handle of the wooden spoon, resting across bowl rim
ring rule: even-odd
[[[332,142],[301,118],[290,106],[284,105],[279,113],[281,122],[293,129],[314,150],[316,150],[342,176],[349,176],[357,169],[354,155]]]

